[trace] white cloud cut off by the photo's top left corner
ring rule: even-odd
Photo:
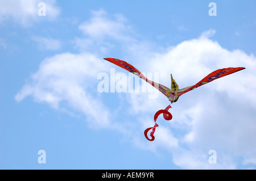
[[[13,20],[22,26],[31,26],[32,23],[40,19],[53,20],[59,14],[60,10],[55,6],[55,0],[44,1],[46,4],[46,16],[39,16],[38,7],[40,0],[9,0],[0,1],[0,23]]]

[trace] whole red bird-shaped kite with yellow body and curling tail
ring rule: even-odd
[[[232,74],[232,73],[235,73],[237,71],[245,69],[243,67],[218,69],[218,70],[213,71],[209,75],[207,75],[205,78],[201,79],[201,81],[197,82],[195,85],[185,87],[183,89],[179,89],[179,86],[175,82],[174,78],[172,78],[172,74],[171,74],[171,89],[169,89],[166,86],[163,86],[159,83],[151,81],[150,79],[147,79],[139,70],[134,68],[133,65],[130,65],[125,61],[118,60],[116,58],[104,58],[104,59],[112,62],[115,65],[120,66],[121,68],[123,68],[127,71],[130,71],[131,73],[133,73],[133,74],[137,75],[138,77],[142,78],[144,81],[150,83],[150,85],[152,85],[153,87],[158,89],[160,92],[162,92],[165,96],[167,96],[167,98],[170,100],[171,103],[176,102],[179,99],[179,97],[181,95],[185,94],[186,92],[194,90],[197,87],[205,85],[205,84],[207,84],[209,82],[212,82],[212,81],[214,81],[218,78],[221,78],[221,77],[224,77],[226,75],[229,75],[229,74]],[[155,116],[154,116],[155,125],[154,125],[154,127],[147,128],[144,131],[144,136],[147,138],[147,140],[149,140],[149,141],[154,141],[155,140],[154,133],[155,133],[156,127],[158,127],[158,124],[156,123],[156,119],[158,118],[158,116],[161,113],[163,113],[163,117],[164,117],[165,120],[171,120],[172,119],[171,113],[168,112],[168,110],[170,108],[171,108],[171,106],[169,105],[164,110],[159,110],[158,112],[155,113]],[[147,133],[148,133],[148,131],[150,131],[150,129],[152,129],[152,132],[150,133],[151,139],[148,138],[148,136],[147,136]]]

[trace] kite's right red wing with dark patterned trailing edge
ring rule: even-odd
[[[218,78],[224,77],[226,75],[235,73],[237,71],[243,70],[245,68],[225,68],[225,69],[218,69],[207,75],[207,77],[201,79],[200,82],[196,83],[196,85],[190,86],[190,87],[185,87],[184,89],[180,89],[177,91],[177,95],[181,96],[182,94],[191,91],[193,89],[196,89],[197,87],[200,87],[202,85],[205,85],[206,83],[212,82]]]

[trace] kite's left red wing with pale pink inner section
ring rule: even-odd
[[[156,89],[158,89],[160,92],[162,92],[164,95],[166,95],[167,97],[170,96],[167,93],[168,87],[160,85],[159,83],[156,83],[154,81],[150,81],[150,79],[147,79],[139,70],[137,70],[136,68],[134,68],[133,65],[128,64],[125,61],[122,60],[118,60],[116,58],[104,58],[105,60],[108,60],[110,62],[112,62],[115,65],[120,66],[121,68],[130,71],[131,73],[137,75],[138,77],[142,78],[144,81],[150,83],[150,85],[152,85],[153,87],[155,87]],[[170,92],[170,91],[169,91]],[[172,92],[172,91],[171,91]],[[168,95],[167,95],[168,94]]]

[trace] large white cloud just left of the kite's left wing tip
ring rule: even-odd
[[[106,67],[92,54],[56,54],[43,60],[31,82],[23,86],[15,99],[21,101],[31,95],[36,102],[48,103],[56,109],[63,108],[60,104],[67,102],[69,108],[88,116],[89,124],[107,126],[108,109],[92,93],[97,89],[90,91],[97,87],[97,74]]]

